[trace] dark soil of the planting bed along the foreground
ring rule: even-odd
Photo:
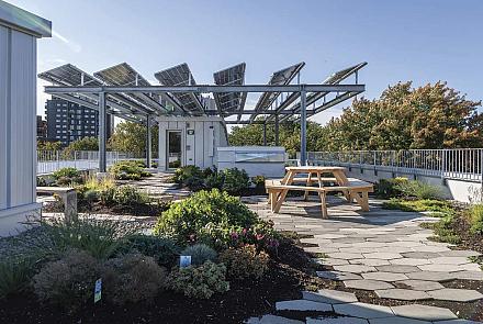
[[[321,287],[322,281],[313,276],[310,256],[291,239],[283,239],[272,258],[260,281],[231,281],[228,292],[210,300],[165,291],[151,304],[116,308],[101,302],[69,315],[61,309],[38,304],[30,291],[0,301],[0,323],[243,323],[250,316],[273,313],[277,301],[299,299],[301,290]]]

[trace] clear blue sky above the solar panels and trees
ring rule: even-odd
[[[199,83],[212,83],[213,71],[245,62],[246,82],[265,83],[303,60],[302,81],[315,83],[368,62],[360,74],[368,98],[397,81],[445,80],[483,99],[480,0],[8,2],[53,22],[55,36],[38,42],[40,71],[68,62],[93,72],[127,62],[154,80],[155,71],[187,62]],[[45,99],[40,87],[38,113]]]

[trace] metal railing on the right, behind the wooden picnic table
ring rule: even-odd
[[[483,148],[308,152],[307,164],[360,167],[483,183]]]

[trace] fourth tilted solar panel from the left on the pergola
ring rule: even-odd
[[[245,63],[213,74],[217,86],[242,86],[245,83]],[[221,115],[229,115],[244,109],[246,92],[213,93]]]

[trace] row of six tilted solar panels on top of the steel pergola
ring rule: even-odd
[[[290,85],[296,75],[304,67],[305,63],[299,63],[279,71],[270,77],[268,86],[285,86]],[[338,85],[346,80],[349,76],[357,75],[358,70],[364,67],[367,63],[361,63],[349,68],[339,70],[330,75],[322,85]],[[243,86],[245,85],[246,64],[242,63],[229,68],[213,74],[214,82],[217,86]],[[128,64],[122,63],[106,69],[96,72],[93,76],[82,71],[71,64],[66,64],[54,69],[47,70],[38,75],[41,79],[53,82],[56,86],[71,87],[101,87],[120,86],[120,87],[149,87],[150,83],[139,72],[132,68]],[[183,63],[155,74],[156,79],[162,86],[195,86],[196,82],[188,66]],[[357,82],[356,82],[357,83]],[[293,90],[292,90],[293,91]],[[347,100],[359,92],[348,91],[337,93],[335,99],[327,100],[329,91],[311,92],[306,97],[307,114],[315,114],[318,111],[333,107],[344,100]],[[141,121],[146,114],[155,115],[205,115],[217,114],[223,118],[237,115],[237,122],[240,121],[243,114],[249,114],[250,118],[244,122],[254,122],[259,114],[268,114],[266,122],[271,122],[274,114],[280,114],[279,121],[283,121],[290,115],[300,113],[301,102],[300,92],[288,92],[283,98],[282,92],[263,92],[258,99],[254,109],[245,110],[245,101],[247,92],[213,92],[216,111],[205,104],[206,98],[195,92],[137,92],[123,91],[106,94],[106,105],[109,113],[116,114],[121,118]],[[97,109],[99,104],[98,93],[58,93],[57,97],[86,107]],[[278,100],[278,99],[281,100]],[[316,102],[323,99],[322,105],[315,108]],[[211,99],[213,101],[213,99]],[[313,109],[310,105],[314,104]],[[212,104],[210,104],[211,107]],[[227,121],[228,122],[228,121]],[[233,121],[229,121],[233,122]]]

